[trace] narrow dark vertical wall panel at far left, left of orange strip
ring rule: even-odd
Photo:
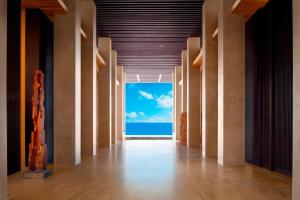
[[[7,168],[20,170],[20,20],[21,1],[7,1]]]

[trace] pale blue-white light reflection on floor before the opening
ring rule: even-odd
[[[130,190],[173,186],[176,165],[174,141],[127,141],[122,155],[123,176]]]

